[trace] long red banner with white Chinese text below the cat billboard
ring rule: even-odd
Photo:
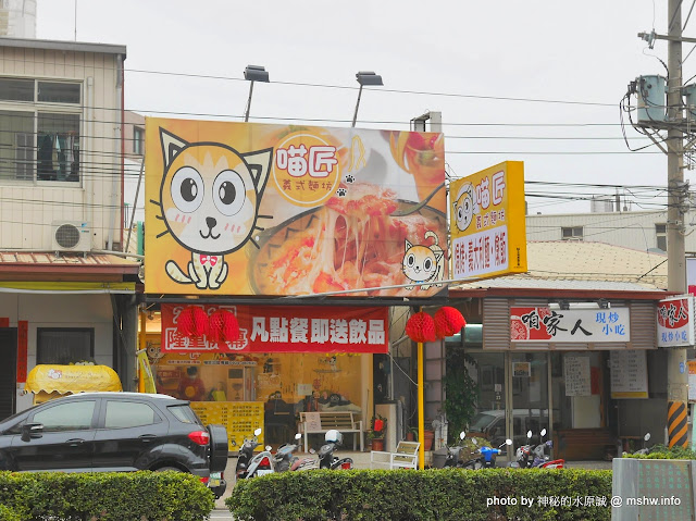
[[[239,339],[217,344],[177,333],[187,307],[162,305],[162,352],[388,352],[387,308],[197,306],[237,318]]]

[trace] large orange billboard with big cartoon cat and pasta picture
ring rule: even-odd
[[[148,117],[146,150],[147,293],[446,291],[442,134]]]

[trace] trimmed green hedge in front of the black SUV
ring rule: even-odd
[[[214,507],[183,472],[0,472],[1,520],[198,521]]]

